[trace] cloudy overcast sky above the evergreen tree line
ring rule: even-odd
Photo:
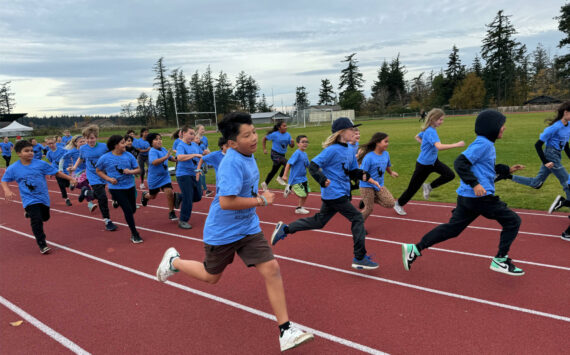
[[[0,0],[0,82],[11,80],[15,112],[111,114],[152,94],[157,59],[187,78],[208,65],[232,81],[245,71],[276,108],[321,79],[338,85],[356,52],[365,93],[382,62],[400,54],[406,79],[445,68],[455,44],[463,64],[480,52],[486,24],[512,15],[515,38],[551,56],[563,33],[563,1],[196,1]],[[564,51],[566,53],[566,51]]]

